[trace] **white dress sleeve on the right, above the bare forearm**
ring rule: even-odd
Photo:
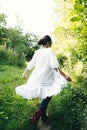
[[[50,54],[50,66],[51,66],[51,68],[59,67],[57,57],[55,56],[55,54],[53,52],[51,52],[51,54]]]

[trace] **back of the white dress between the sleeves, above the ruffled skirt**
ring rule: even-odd
[[[54,69],[52,68],[53,52],[50,48],[42,48],[35,52],[32,60],[35,60],[34,71],[29,79],[29,82],[40,85],[51,85],[54,81]]]

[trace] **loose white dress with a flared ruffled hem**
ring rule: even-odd
[[[67,85],[66,79],[54,69],[58,68],[58,61],[50,48],[42,48],[35,52],[27,70],[34,66],[27,83],[16,87],[16,94],[26,99],[44,99],[58,94]]]

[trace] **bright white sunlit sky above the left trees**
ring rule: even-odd
[[[43,35],[52,30],[53,4],[53,0],[0,0],[0,12],[8,16],[8,26],[19,23],[24,32]]]

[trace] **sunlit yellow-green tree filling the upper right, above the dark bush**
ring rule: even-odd
[[[62,5],[60,8],[59,4]],[[56,53],[64,54],[68,59],[67,64],[74,68],[78,60],[87,61],[87,2],[56,0],[56,5],[56,15],[62,17],[60,22],[57,20],[53,32]]]

